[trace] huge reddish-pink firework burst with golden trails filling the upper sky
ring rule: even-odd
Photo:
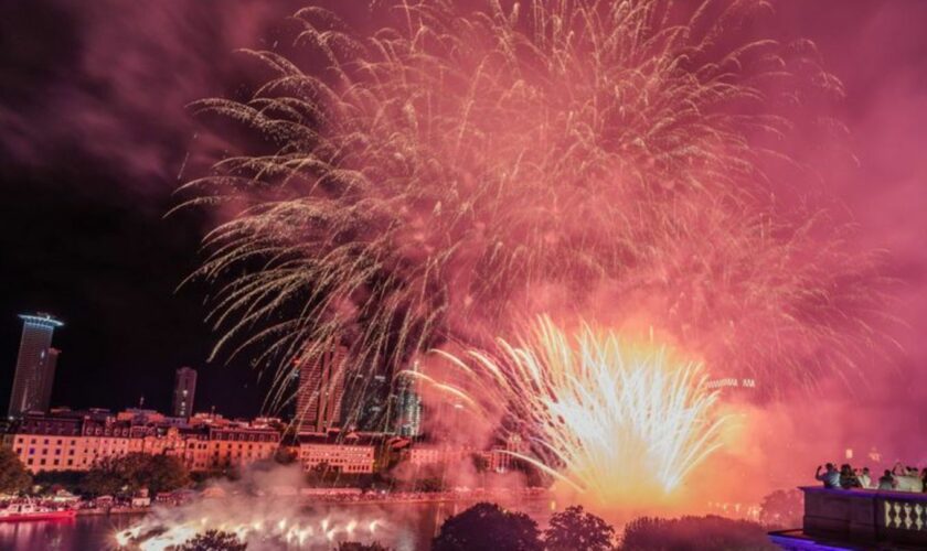
[[[766,2],[372,9],[395,24],[299,11],[312,69],[249,51],[273,77],[195,105],[249,137],[183,188],[221,219],[195,276],[217,285],[216,349],[258,350],[276,401],[332,338],[396,372],[603,302],[767,388],[855,369],[869,263],[774,208],[761,170],[800,100],[792,66],[839,83],[801,48],[732,36]]]

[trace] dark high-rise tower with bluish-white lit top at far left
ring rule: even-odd
[[[10,395],[10,418],[29,411],[47,411],[55,378],[60,350],[52,348],[52,335],[64,325],[50,314],[22,314],[20,341],[13,391]]]

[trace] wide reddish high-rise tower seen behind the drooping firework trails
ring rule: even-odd
[[[296,424],[300,432],[327,432],[341,426],[348,349],[332,344],[298,361]]]

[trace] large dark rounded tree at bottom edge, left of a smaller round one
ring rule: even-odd
[[[543,548],[537,523],[531,517],[487,503],[445,520],[431,543],[431,551],[540,551]]]

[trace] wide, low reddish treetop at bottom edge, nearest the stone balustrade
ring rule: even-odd
[[[776,551],[766,530],[757,522],[716,516],[638,518],[625,526],[622,551],[702,551],[750,550]]]

